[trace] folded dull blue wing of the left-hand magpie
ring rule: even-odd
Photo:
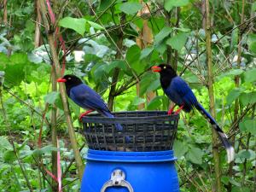
[[[98,112],[109,112],[102,96],[86,84],[79,84],[70,90],[70,98],[81,108],[94,109]],[[109,112],[110,113],[110,112]]]

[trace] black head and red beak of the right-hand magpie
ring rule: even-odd
[[[164,89],[166,89],[171,83],[172,79],[177,76],[174,69],[167,64],[160,64],[159,66],[151,67],[153,72],[160,73],[160,83]]]

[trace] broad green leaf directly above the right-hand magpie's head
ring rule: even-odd
[[[186,44],[187,38],[187,33],[179,32],[177,35],[173,36],[172,38],[169,38],[166,41],[166,44],[172,46],[173,49],[177,49],[177,51],[180,51]]]

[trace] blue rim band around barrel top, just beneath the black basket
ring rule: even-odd
[[[123,152],[102,151],[88,149],[86,160],[111,161],[111,162],[164,162],[177,160],[173,150],[152,152]]]

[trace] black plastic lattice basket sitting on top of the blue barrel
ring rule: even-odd
[[[172,149],[178,114],[166,111],[113,113],[114,118],[93,113],[83,118],[84,137],[90,149],[161,151]],[[120,128],[121,129],[118,129]]]

